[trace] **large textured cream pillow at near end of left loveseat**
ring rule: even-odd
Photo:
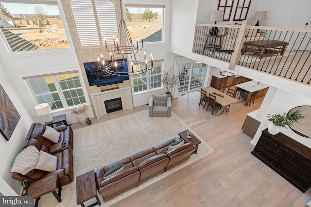
[[[28,146],[16,156],[11,173],[26,175],[29,171],[34,170],[39,155],[40,152],[34,145]]]

